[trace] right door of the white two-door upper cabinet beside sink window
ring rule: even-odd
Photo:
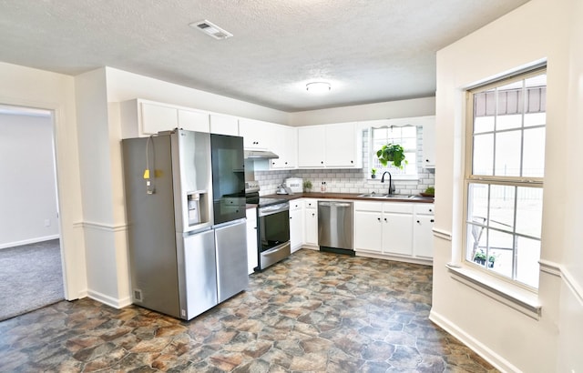
[[[357,136],[354,123],[328,125],[325,141],[327,167],[355,167],[358,165]],[[361,155],[362,156],[362,155]]]

